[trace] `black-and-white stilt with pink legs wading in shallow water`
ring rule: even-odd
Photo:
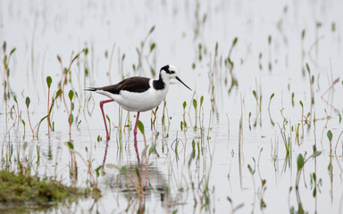
[[[101,95],[110,97],[110,100],[100,102],[100,109],[103,113],[106,129],[106,139],[109,140],[105,113],[103,105],[105,103],[117,102],[123,109],[127,111],[137,111],[136,125],[133,133],[137,136],[137,122],[140,111],[149,111],[157,107],[163,102],[168,93],[169,82],[171,78],[176,78],[184,84],[178,77],[177,69],[172,65],[163,66],[160,70],[160,76],[157,80],[152,78],[133,77],[125,78],[120,83],[112,86],[104,87],[88,87],[85,90],[95,91]],[[188,86],[186,86],[188,87]],[[188,87],[189,90],[191,90]]]

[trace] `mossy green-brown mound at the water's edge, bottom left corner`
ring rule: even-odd
[[[59,203],[75,202],[89,191],[48,178],[29,177],[0,170],[0,212],[46,210]]]

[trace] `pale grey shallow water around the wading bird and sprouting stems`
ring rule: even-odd
[[[21,160],[29,159],[32,174],[56,177],[72,185],[71,154],[65,144],[70,141],[68,92],[72,89],[77,93],[71,126],[78,165],[77,185],[89,187],[91,175],[96,177],[96,169],[103,166],[96,177],[103,196],[98,201],[88,199],[60,206],[57,212],[137,212],[145,206],[146,213],[174,210],[179,213],[282,210],[287,213],[298,210],[301,203],[310,213],[315,210],[340,213],[343,203],[343,142],[339,138],[343,113],[342,6],[339,1],[288,4],[281,1],[0,1],[0,41],[6,41],[6,54],[16,48],[9,62],[8,81],[4,66],[0,69],[2,83],[6,80],[11,93],[6,101],[2,86],[2,153],[8,153],[8,146],[13,144],[14,154],[19,153]],[[155,29],[148,35],[153,26]],[[235,37],[238,42],[230,53]],[[141,50],[142,41],[145,45],[138,69],[137,48]],[[150,52],[152,44],[155,48]],[[56,56],[68,68],[71,58],[83,48],[88,48],[88,54],[81,53],[71,65],[64,89],[67,106],[61,99],[55,103],[51,118],[54,132],[50,137],[47,135],[45,119],[38,139],[31,140],[26,97],[31,101],[29,117],[34,127],[46,116],[46,77],[53,78],[50,99],[64,78]],[[233,87],[230,87],[230,66],[225,63],[229,53],[234,65],[232,74],[238,82]],[[3,52],[0,57],[4,59]],[[192,91],[173,81],[175,84],[171,84],[166,98],[165,125],[163,103],[157,111],[155,128],[151,128],[150,111],[140,115],[145,126],[147,152],[153,144],[155,152],[146,161],[142,154],[145,140],[140,132],[138,153],[135,151],[132,131],[118,128],[120,113],[116,103],[105,105],[112,128],[111,140],[106,144],[98,106],[105,97],[85,92],[83,88],[114,84],[122,76],[156,78],[150,68],[158,73],[160,67],[169,63],[179,68],[180,78]],[[313,105],[305,63],[314,76]],[[88,70],[87,77],[85,70]],[[339,82],[330,88],[337,78]],[[253,91],[257,92],[257,100],[262,95],[261,113]],[[193,128],[196,125],[193,95],[197,99],[197,129]],[[200,108],[201,96],[204,103]],[[188,128],[181,130],[185,101]],[[17,111],[25,121],[25,128],[16,118]],[[307,118],[310,126],[305,124],[308,112],[312,112]],[[127,115],[122,111],[123,121]],[[132,122],[134,115],[130,113]],[[329,130],[333,135],[332,155]],[[289,159],[282,133],[291,139]],[[103,141],[98,142],[98,136]],[[316,157],[315,163],[314,159],[305,162],[296,191],[297,157],[299,154],[309,157],[314,144],[322,154]],[[328,167],[330,160],[332,174]],[[17,170],[14,157],[11,161],[10,169]],[[139,175],[144,175],[143,189],[150,187],[141,196],[135,188],[139,181],[136,168],[140,170]],[[314,172],[316,197],[311,178]]]

